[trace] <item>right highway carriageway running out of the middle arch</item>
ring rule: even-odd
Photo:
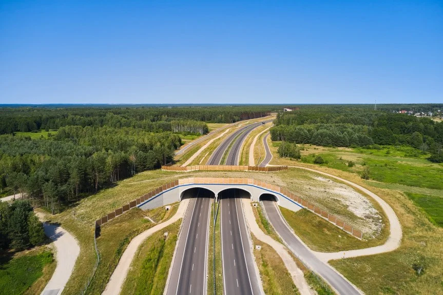
[[[220,199],[224,294],[260,294],[238,194],[236,189],[226,190]]]

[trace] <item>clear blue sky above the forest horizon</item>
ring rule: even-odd
[[[105,5],[106,4],[106,5]],[[443,103],[443,1],[0,1],[0,103]]]

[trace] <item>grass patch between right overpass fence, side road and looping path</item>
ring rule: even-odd
[[[336,252],[368,248],[380,244],[389,234],[384,230],[375,239],[360,241],[307,209],[294,212],[280,207],[280,211],[298,237],[314,251]]]

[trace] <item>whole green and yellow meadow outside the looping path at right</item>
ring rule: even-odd
[[[276,147],[273,149],[275,151]],[[370,189],[388,202],[396,212],[402,225],[403,239],[400,247],[395,251],[342,259],[332,261],[330,264],[367,294],[442,294],[443,247],[441,245],[443,243],[443,228],[430,222],[426,209],[417,206],[428,208],[429,201],[423,202],[420,199],[429,196],[431,198],[428,200],[432,200],[432,203],[440,204],[442,194],[441,189],[438,188],[441,187],[441,177],[438,175],[441,174],[442,166],[432,164],[425,159],[408,158],[406,154],[401,157],[393,157],[392,152],[387,154],[386,151],[384,155],[374,155],[375,151],[373,154],[370,154],[371,151],[365,151],[369,154],[361,154],[356,150],[338,150],[340,151],[332,152],[331,150],[325,151],[323,148],[320,154],[324,154],[325,158],[328,158],[328,154],[332,153],[332,159],[336,159],[335,162],[331,161],[323,165],[279,159],[276,157],[276,153],[274,153],[275,160],[273,161],[285,165],[292,163],[292,165],[315,168]],[[316,151],[319,153],[320,148]],[[380,151],[377,152],[380,153]],[[397,152],[401,151],[397,150]],[[369,163],[371,174],[375,175],[373,178],[386,182],[363,181],[358,170],[349,169],[350,171],[346,171],[349,167],[337,165],[338,161],[348,160],[345,156],[349,156],[349,160],[363,159],[360,161],[367,162],[367,165]],[[399,166],[389,168],[389,161],[394,161]],[[387,165],[384,165],[385,163]],[[337,168],[332,169],[328,166]],[[338,168],[341,169],[338,170]],[[358,169],[358,166],[354,169]],[[419,180],[420,178],[423,182]],[[388,182],[395,182],[395,179],[401,179],[401,184]],[[415,199],[412,201],[406,196],[406,190],[414,191],[414,193],[432,193],[432,195],[426,193],[421,196],[411,195],[411,198]],[[441,211],[433,211],[431,218],[434,219],[435,214],[439,217],[441,215],[439,212]]]

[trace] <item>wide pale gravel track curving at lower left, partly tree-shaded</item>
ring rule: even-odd
[[[42,295],[58,295],[65,288],[71,276],[80,247],[72,235],[59,225],[43,224],[45,234],[54,241],[57,266]]]

